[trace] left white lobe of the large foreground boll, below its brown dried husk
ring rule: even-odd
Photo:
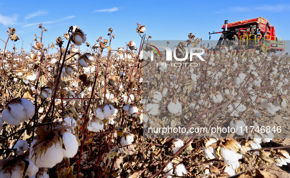
[[[37,142],[37,140],[33,140],[30,148],[33,148],[33,145]],[[35,163],[35,166],[37,167],[43,167],[43,168],[52,168],[57,163],[61,162],[63,159],[63,151],[62,146],[59,142],[56,142],[56,144],[53,143],[53,145],[49,148],[47,148],[46,152],[39,155],[37,158],[35,158],[35,155],[33,154],[33,149],[29,150],[29,159]]]

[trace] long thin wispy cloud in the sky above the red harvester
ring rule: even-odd
[[[253,12],[253,11],[264,11],[264,12],[283,12],[289,11],[290,5],[289,4],[274,4],[274,5],[262,5],[258,7],[229,7],[223,11],[215,12],[217,14],[221,13],[232,13],[232,12]]]

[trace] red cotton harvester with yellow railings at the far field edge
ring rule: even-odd
[[[223,31],[209,32],[211,34],[221,33],[217,47],[229,45],[235,49],[255,49],[265,53],[267,51],[285,51],[285,41],[276,37],[275,27],[270,25],[267,19],[262,17],[237,21],[222,26]]]

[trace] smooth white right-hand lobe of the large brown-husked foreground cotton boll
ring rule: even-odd
[[[63,150],[63,155],[68,158],[74,157],[79,148],[76,136],[70,132],[64,132],[62,135],[62,142],[65,148],[65,150]]]

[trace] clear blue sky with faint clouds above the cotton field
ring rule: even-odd
[[[8,26],[16,28],[21,40],[8,43],[26,51],[30,50],[34,34],[40,35],[38,24],[48,29],[44,33],[44,45],[55,43],[69,26],[77,25],[87,34],[87,42],[93,45],[99,36],[107,38],[107,29],[114,29],[116,38],[112,48],[124,47],[131,40],[137,44],[140,37],[135,32],[136,23],[146,25],[146,34],[152,40],[182,40],[192,32],[199,38],[209,39],[209,32],[220,31],[224,20],[229,23],[263,17],[276,27],[276,36],[290,40],[290,1],[288,0],[46,0],[0,2],[0,38],[6,40]],[[212,35],[216,40],[219,35]],[[0,49],[4,43],[0,41]],[[84,45],[83,45],[84,46]],[[137,45],[138,46],[138,45]],[[82,49],[85,49],[82,47]]]

